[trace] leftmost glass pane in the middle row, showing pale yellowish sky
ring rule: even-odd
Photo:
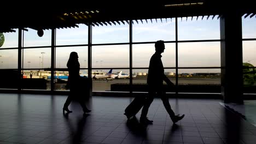
[[[18,49],[0,50],[0,69],[18,69]]]

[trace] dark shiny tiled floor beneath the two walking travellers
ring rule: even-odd
[[[127,122],[132,98],[92,97],[91,114],[79,104],[62,115],[66,96],[0,94],[0,143],[255,143],[256,128],[225,109],[222,100],[170,99],[184,119],[173,125],[160,99],[150,106],[153,125]],[[141,112],[137,114],[139,118]]]

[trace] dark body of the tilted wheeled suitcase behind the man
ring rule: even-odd
[[[132,116],[135,116],[139,110],[141,110],[144,105],[145,97],[135,97],[131,104],[129,104],[126,109],[124,115],[129,119]]]

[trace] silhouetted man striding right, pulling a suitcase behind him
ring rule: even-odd
[[[173,123],[178,122],[184,117],[184,115],[176,116],[174,114],[174,112],[171,109],[169,99],[166,97],[164,92],[163,81],[165,81],[167,85],[173,85],[173,83],[164,74],[164,67],[161,61],[161,57],[162,57],[161,53],[164,52],[164,50],[165,50],[164,41],[163,40],[156,41],[155,53],[150,58],[150,63],[149,63],[148,79],[147,79],[148,88],[149,88],[148,97],[144,103],[142,113],[141,113],[141,118],[139,119],[141,123],[146,123],[146,124],[153,123],[153,121],[150,121],[147,118],[147,114],[148,114],[149,106],[153,102],[156,94],[160,96],[162,103],[164,103],[165,109],[170,115]]]

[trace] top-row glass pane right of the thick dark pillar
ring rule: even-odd
[[[256,19],[255,16],[250,18],[248,17],[242,17],[242,38],[243,39],[250,39],[250,38],[256,38]]]

